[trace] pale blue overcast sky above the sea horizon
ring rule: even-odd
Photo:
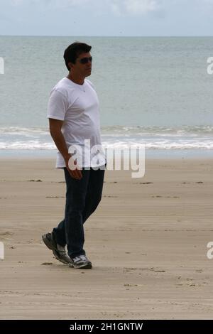
[[[212,36],[213,0],[0,0],[0,35]]]

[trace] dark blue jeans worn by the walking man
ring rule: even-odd
[[[83,225],[102,199],[104,183],[102,168],[97,170],[82,168],[81,180],[72,178],[67,168],[64,168],[67,185],[65,219],[53,229],[53,232],[58,244],[63,247],[67,244],[68,255],[72,258],[85,255]]]

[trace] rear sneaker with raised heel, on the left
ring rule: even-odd
[[[55,259],[64,264],[70,264],[71,260],[70,257],[67,255],[65,247],[62,247],[56,243],[53,232],[46,233],[42,236],[42,239],[45,245],[53,251]]]

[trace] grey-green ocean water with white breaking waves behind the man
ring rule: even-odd
[[[105,148],[213,156],[212,37],[0,36],[1,156],[55,154],[48,97],[67,75],[62,56],[74,41],[92,45]]]

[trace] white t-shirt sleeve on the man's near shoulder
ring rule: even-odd
[[[65,113],[67,111],[68,103],[67,98],[58,90],[53,90],[50,94],[48,101],[48,118],[59,119],[63,121],[65,119]]]

